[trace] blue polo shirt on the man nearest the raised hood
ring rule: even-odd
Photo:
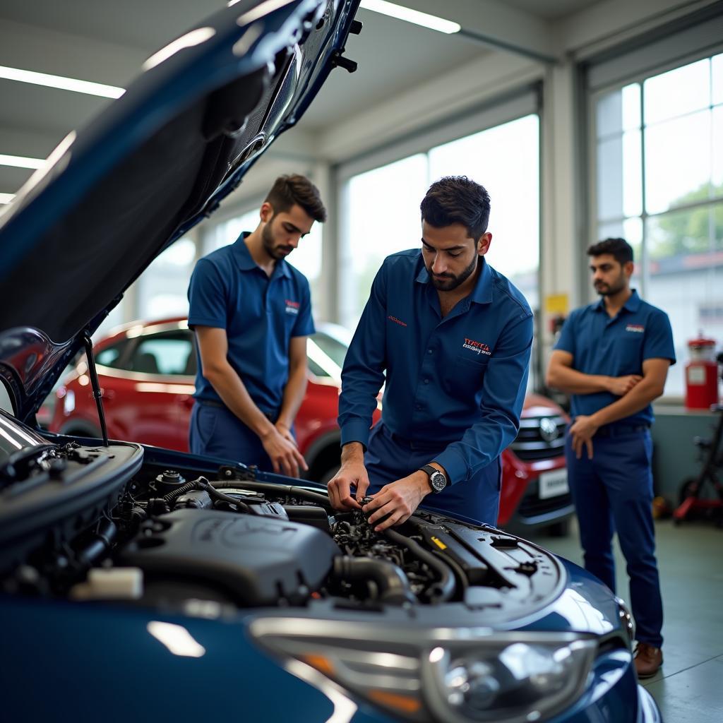
[[[289,340],[314,333],[311,294],[307,278],[283,259],[266,275],[252,259],[246,236],[197,262],[188,323],[226,329],[231,367],[258,408],[275,414],[288,381]],[[194,396],[221,401],[201,374],[200,357]]]

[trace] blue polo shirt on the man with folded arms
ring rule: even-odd
[[[675,364],[673,334],[668,315],[643,301],[633,289],[615,317],[609,317],[604,299],[575,309],[562,325],[556,349],[573,355],[573,369],[583,374],[625,377],[642,375],[646,359],[670,359]],[[609,392],[573,394],[572,414],[595,414],[620,399]],[[651,424],[653,408],[646,408],[613,424]]]

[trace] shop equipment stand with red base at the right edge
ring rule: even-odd
[[[723,484],[719,479],[719,471],[723,469],[723,404],[714,404],[711,411],[719,415],[718,424],[711,440],[701,440],[700,437],[695,439],[696,446],[705,455],[705,459],[701,473],[686,480],[680,487],[680,505],[673,513],[673,522],[676,525],[680,525],[688,515],[701,512],[716,515],[716,523],[719,527],[723,526]],[[718,495],[717,500],[701,499],[701,489],[706,482],[713,485]]]

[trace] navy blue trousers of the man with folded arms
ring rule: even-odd
[[[663,604],[655,559],[651,502],[653,442],[648,429],[612,437],[593,437],[593,458],[583,450],[576,458],[565,439],[570,492],[578,513],[585,569],[615,591],[612,535],[628,563],[630,607],[636,637],[659,648],[663,638]]]

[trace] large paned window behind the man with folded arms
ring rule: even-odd
[[[593,103],[594,240],[633,246],[634,286],[667,312],[684,361],[699,332],[723,340],[723,54],[642,73]],[[683,394],[683,364],[665,392]]]

